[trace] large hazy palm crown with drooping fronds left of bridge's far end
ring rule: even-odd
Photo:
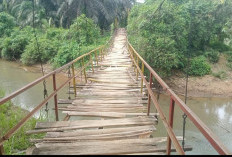
[[[127,9],[132,7],[135,0],[41,0],[47,6],[48,15],[54,17],[56,23],[67,27],[71,21],[81,14],[92,18],[101,29],[109,28],[115,17],[127,16]],[[52,9],[51,9],[52,8]]]

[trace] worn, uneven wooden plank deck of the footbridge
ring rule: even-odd
[[[27,134],[46,136],[31,139],[35,147],[28,149],[28,154],[165,154],[167,137],[150,137],[156,130],[158,114],[146,114],[147,96],[141,94],[140,78],[136,80],[125,44],[126,33],[120,30],[111,52],[95,66],[95,73],[87,72],[88,83],[77,85],[76,99],[59,101],[67,104],[59,107],[63,114],[81,120],[37,123]]]

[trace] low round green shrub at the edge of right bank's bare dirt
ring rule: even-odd
[[[195,57],[191,60],[189,74],[193,76],[204,76],[211,72],[211,67],[204,56]]]

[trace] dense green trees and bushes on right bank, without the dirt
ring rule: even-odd
[[[209,74],[207,62],[216,63],[219,53],[231,50],[231,8],[230,0],[147,0],[130,13],[129,40],[164,77],[185,71],[188,56],[191,75]]]

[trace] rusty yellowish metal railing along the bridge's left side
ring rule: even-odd
[[[100,46],[78,58],[76,58],[75,60],[71,61],[70,63],[58,68],[55,71],[50,72],[49,74],[31,82],[30,84],[24,86],[23,88],[15,91],[14,93],[10,94],[9,96],[3,98],[0,100],[0,106],[4,105],[6,102],[12,100],[13,98],[17,97],[18,95],[24,93],[25,91],[29,90],[30,88],[38,85],[39,83],[41,83],[42,81],[44,81],[45,79],[48,79],[50,77],[52,77],[52,81],[53,81],[53,92],[46,98],[44,99],[39,105],[37,105],[29,114],[27,114],[23,119],[20,120],[20,122],[15,125],[13,128],[11,128],[3,137],[0,138],[0,155],[4,154],[4,142],[6,142],[8,139],[10,139],[14,133],[16,133],[33,115],[35,115],[36,112],[38,112],[50,99],[54,98],[54,106],[55,106],[55,117],[56,117],[56,121],[59,121],[59,115],[58,115],[58,100],[57,100],[57,93],[64,88],[65,85],[67,85],[69,82],[73,82],[73,88],[74,88],[74,94],[75,97],[77,89],[76,89],[76,78],[78,77],[78,75],[82,72],[84,72],[84,77],[85,77],[85,82],[87,83],[87,75],[86,75],[86,68],[88,66],[91,66],[92,68],[92,72],[94,73],[94,62],[96,63],[96,66],[98,66],[98,62],[100,60],[102,60],[104,58],[104,55],[106,54],[106,49],[108,48],[108,46],[111,44],[112,42],[112,37],[111,39],[104,45],[104,46]],[[85,60],[88,60],[87,63],[85,63]],[[77,71],[77,69],[75,69],[75,63],[77,63],[79,61],[79,63],[82,65],[81,68],[78,70],[78,73],[75,74],[75,72]],[[66,80],[65,82],[62,83],[62,85],[60,85],[59,87],[57,87],[57,74],[59,72],[61,72],[62,70],[66,70],[67,68],[71,68],[72,70],[72,76],[68,78],[68,80]],[[65,117],[65,119],[67,119],[67,117]],[[64,119],[64,120],[65,120]]]

